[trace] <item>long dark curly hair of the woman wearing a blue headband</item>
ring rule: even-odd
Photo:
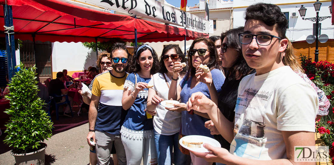
[[[144,44],[144,45],[147,45],[147,44]],[[137,63],[137,60],[139,59],[139,56],[142,52],[144,52],[145,50],[150,50],[150,52],[152,53],[152,56],[153,56],[153,65],[152,65],[152,68],[151,68],[151,71],[150,73],[151,74],[156,74],[159,70],[159,59],[158,59],[158,55],[157,53],[155,52],[155,50],[152,48],[152,51],[150,48],[148,47],[143,47],[141,49],[139,49],[138,51],[138,48],[141,47],[143,45],[139,45],[135,48],[134,52],[133,52],[133,56],[131,58],[129,58],[129,61],[128,61],[128,73],[135,73],[135,72],[138,72],[141,68],[140,68],[140,65]]]

